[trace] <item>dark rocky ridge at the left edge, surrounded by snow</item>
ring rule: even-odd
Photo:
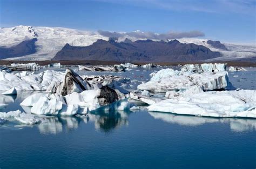
[[[30,55],[36,52],[35,42],[37,38],[24,40],[23,42],[12,46],[10,48],[0,47],[0,59],[21,57],[25,55]]]

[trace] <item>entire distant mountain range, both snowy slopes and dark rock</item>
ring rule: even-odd
[[[7,60],[255,60],[255,44],[199,38],[111,39],[98,32],[68,28],[15,26],[0,29],[0,59]],[[73,51],[73,53],[71,52]],[[69,56],[68,56],[69,55]]]

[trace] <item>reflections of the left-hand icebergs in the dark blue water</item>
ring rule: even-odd
[[[20,124],[17,121],[9,119],[8,123],[0,126],[0,129],[24,129],[25,127],[37,127],[42,134],[58,134],[63,131],[77,129],[79,124],[95,123],[95,129],[104,132],[109,132],[122,125],[128,125],[127,117],[129,112],[113,111],[113,112],[94,112],[88,116],[61,116],[61,117],[40,117],[41,124],[26,125]]]

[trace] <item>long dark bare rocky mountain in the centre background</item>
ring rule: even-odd
[[[183,44],[178,40],[155,42],[137,40],[116,42],[98,39],[90,46],[71,46],[66,44],[53,60],[103,60],[119,62],[181,62],[198,61],[221,57],[203,45]]]

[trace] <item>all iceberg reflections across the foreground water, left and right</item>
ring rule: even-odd
[[[94,123],[95,129],[103,132],[117,130],[118,127],[129,125],[129,111],[93,112],[81,117],[41,117],[43,121],[38,125],[25,125],[17,121],[9,120],[0,125],[0,129],[19,130],[25,127],[37,127],[42,134],[58,134],[64,131],[75,130],[80,124]],[[140,113],[139,111],[137,113]],[[154,119],[160,119],[167,123],[185,126],[199,126],[207,123],[230,124],[234,132],[255,131],[256,119],[244,118],[207,118],[196,116],[177,115],[172,113],[149,112]],[[217,124],[218,125],[218,124]]]

